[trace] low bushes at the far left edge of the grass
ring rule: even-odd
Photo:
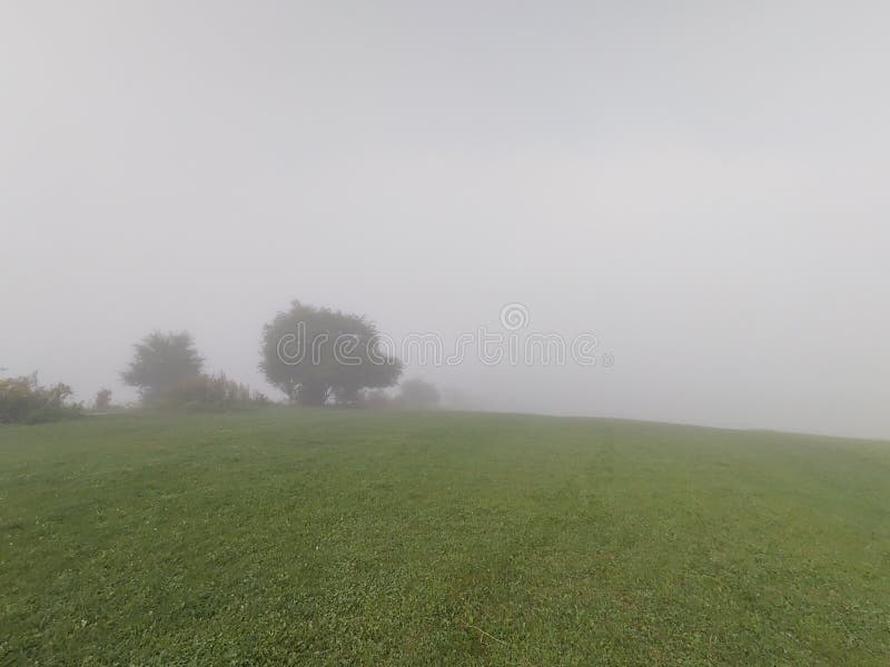
[[[37,374],[0,378],[0,424],[42,424],[81,417],[83,406],[70,400],[72,394],[62,382],[41,387]]]

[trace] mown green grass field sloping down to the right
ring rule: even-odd
[[[0,664],[890,665],[890,444],[269,409],[0,428]]]

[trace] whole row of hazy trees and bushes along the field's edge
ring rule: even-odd
[[[263,327],[259,369],[288,404],[306,407],[433,409],[435,386],[402,382],[404,366],[382,349],[378,330],[365,316],[294,301]],[[152,331],[134,346],[121,379],[154,409],[230,410],[273,402],[225,374],[205,371],[205,358],[188,331]],[[38,422],[77,417],[67,385],[40,387],[36,376],[0,379],[0,422]],[[111,391],[96,396],[97,411],[113,409]]]

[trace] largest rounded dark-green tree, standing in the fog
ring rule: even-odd
[[[392,387],[402,361],[380,349],[364,316],[294,301],[263,329],[260,370],[291,401],[323,406],[329,397],[355,405],[365,388]]]

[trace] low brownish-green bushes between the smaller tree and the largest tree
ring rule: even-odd
[[[151,400],[157,408],[196,412],[222,412],[266,406],[269,402],[265,394],[228,379],[226,374],[218,376],[200,374],[185,378],[165,387]]]

